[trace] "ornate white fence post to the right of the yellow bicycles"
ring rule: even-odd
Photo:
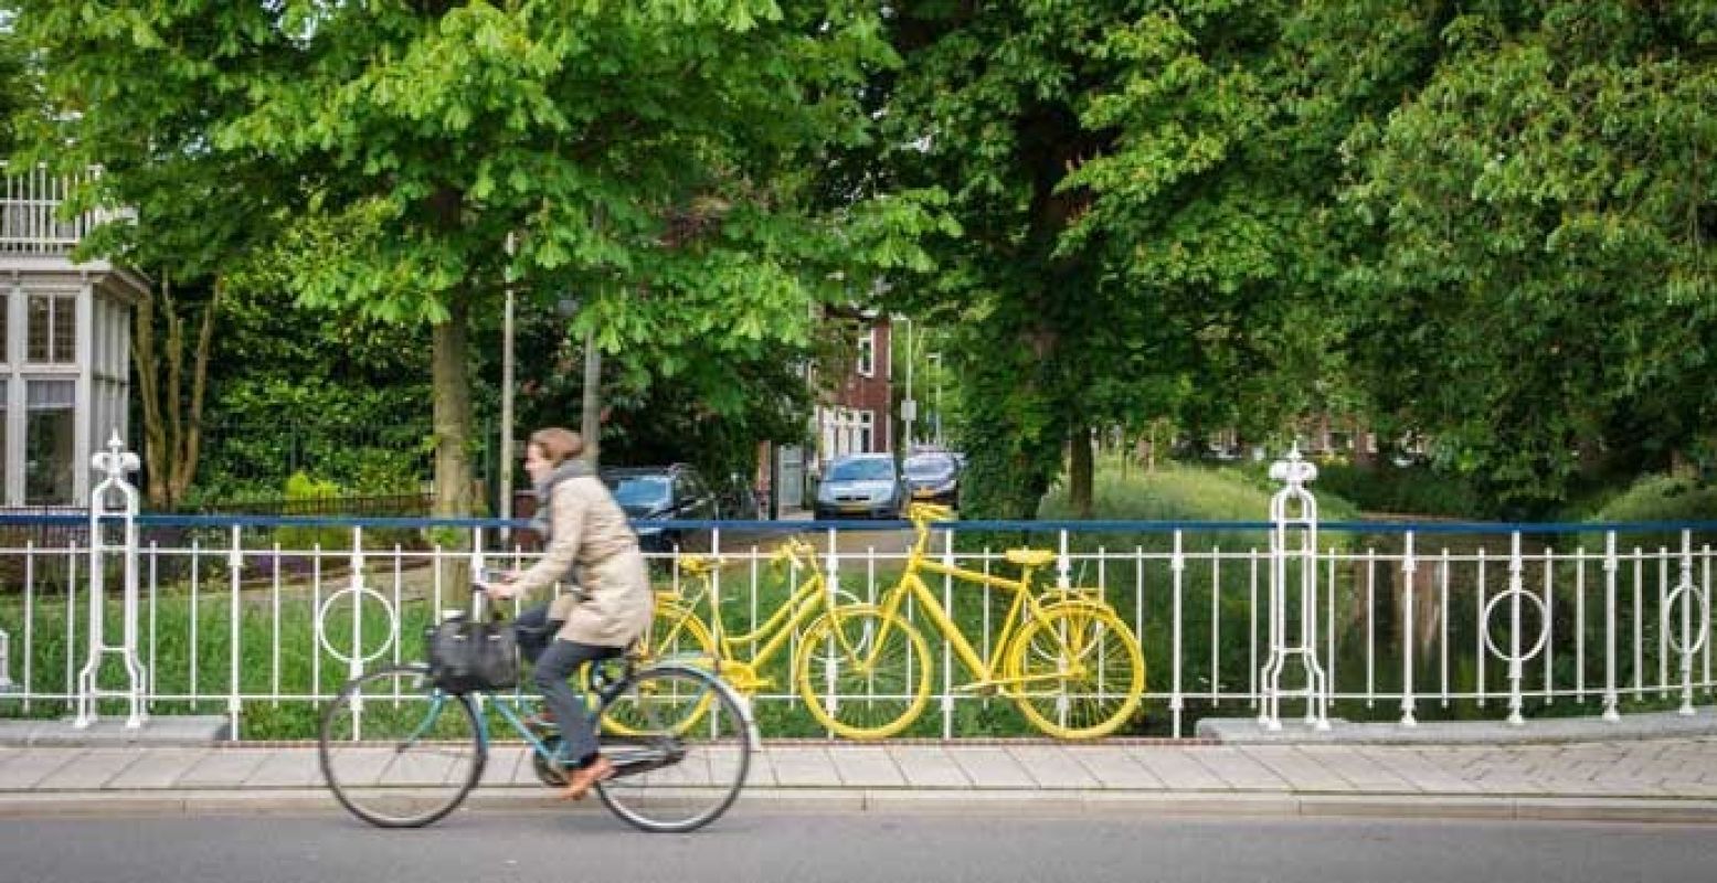
[[[1281,730],[1281,697],[1305,696],[1305,722],[1329,728],[1329,679],[1317,661],[1317,500],[1305,483],[1317,478],[1317,466],[1300,457],[1300,445],[1288,450],[1288,459],[1271,464],[1271,479],[1286,488],[1271,496],[1271,656],[1264,663],[1259,682],[1264,691],[1259,725]],[[1289,515],[1289,503],[1298,503],[1298,514]],[[1295,534],[1289,548],[1289,531]],[[1300,634],[1288,637],[1288,562],[1293,560],[1300,581]],[[1283,691],[1283,667],[1289,656],[1298,656],[1305,667],[1305,687]]]

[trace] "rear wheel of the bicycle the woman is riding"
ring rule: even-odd
[[[701,718],[687,727],[690,709]],[[635,828],[692,831],[721,818],[745,787],[754,751],[750,715],[709,672],[658,665],[635,672],[603,708],[628,735],[604,737],[615,776],[596,785],[608,809]]]

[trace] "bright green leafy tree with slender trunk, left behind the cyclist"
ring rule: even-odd
[[[819,156],[867,137],[858,84],[895,60],[858,3],[19,9],[76,110],[53,137],[108,167],[113,204],[170,201],[173,163],[234,189],[258,168],[259,192],[288,199],[242,230],[275,242],[299,304],[431,328],[441,514],[470,507],[470,335],[508,282],[575,294],[573,335],[675,376],[706,369],[689,354],[809,340],[809,304],[845,290],[836,268],[927,266],[920,201],[805,199]],[[149,149],[117,163],[125,132]],[[237,196],[197,208],[259,204]],[[160,225],[137,230],[153,242]]]

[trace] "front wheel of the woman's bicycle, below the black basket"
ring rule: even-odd
[[[381,828],[417,828],[457,807],[482,776],[477,715],[433,687],[422,665],[350,680],[323,713],[323,780],[340,806]]]

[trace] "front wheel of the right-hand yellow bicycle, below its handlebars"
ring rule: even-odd
[[[810,716],[846,739],[888,739],[931,699],[931,649],[898,613],[843,605],[805,629],[793,661]]]

